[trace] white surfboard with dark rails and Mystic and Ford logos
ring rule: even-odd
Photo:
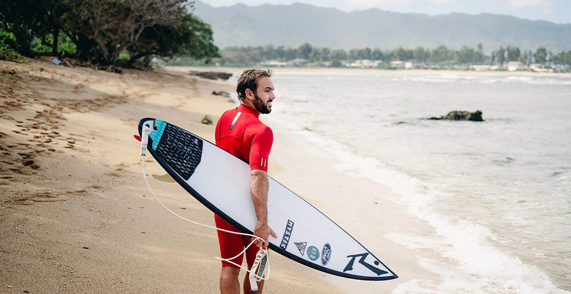
[[[142,148],[168,175],[215,214],[243,233],[256,225],[250,165],[222,148],[155,118],[139,122]],[[397,275],[317,208],[268,177],[270,249],[331,275],[391,280]]]

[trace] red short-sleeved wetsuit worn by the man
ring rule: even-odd
[[[274,142],[274,134],[270,127],[260,122],[259,115],[257,110],[244,104],[224,112],[216,124],[216,146],[250,163],[251,170],[268,171],[268,155]],[[214,215],[214,220],[218,228],[239,232],[218,215]],[[220,256],[229,259],[244,250],[244,247],[250,244],[251,238],[218,231],[218,241]],[[246,251],[248,268],[254,263],[256,253],[256,245],[251,245]],[[243,256],[232,259],[237,264],[242,264],[242,260]],[[226,261],[222,261],[222,266],[238,268]]]

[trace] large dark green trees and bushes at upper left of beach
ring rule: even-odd
[[[210,25],[192,8],[185,0],[4,0],[0,35],[10,38],[0,38],[0,59],[66,51],[100,65],[148,67],[152,57],[220,57]]]

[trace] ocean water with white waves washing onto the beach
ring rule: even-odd
[[[417,257],[440,281],[393,293],[571,293],[570,76],[279,71],[272,80],[272,128],[335,156],[338,172],[390,187],[388,200],[435,228],[384,236],[439,255]],[[427,119],[454,110],[485,121]]]

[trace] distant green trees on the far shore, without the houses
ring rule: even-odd
[[[311,50],[308,50],[311,48]],[[307,51],[300,51],[307,50]],[[510,52],[518,53],[517,47],[509,47]],[[308,53],[309,52],[309,53]],[[222,50],[222,58],[215,59],[215,62],[226,66],[256,66],[267,61],[293,61],[304,54],[308,54],[305,63],[320,63],[321,66],[343,67],[348,63],[355,62],[359,59],[371,59],[381,61],[377,68],[392,69],[389,65],[391,61],[416,61],[424,62],[427,67],[435,67],[442,69],[466,69],[467,65],[493,65],[496,62],[505,63],[506,50],[500,47],[499,50],[493,51],[492,56],[483,53],[483,46],[478,44],[477,49],[469,46],[463,46],[460,50],[449,49],[446,46],[439,46],[430,50],[424,47],[417,47],[414,50],[399,47],[393,50],[380,50],[375,48],[371,50],[368,47],[362,49],[351,49],[348,52],[343,49],[331,50],[328,47],[313,47],[309,43],[303,44],[297,48],[284,48],[268,46],[257,47],[227,47]],[[564,66],[566,70],[571,70],[571,51],[569,53],[550,54],[549,62],[556,66],[556,70],[561,70]],[[530,63],[533,60],[531,51],[523,51],[518,55],[518,60],[522,63]],[[503,57],[503,58],[502,58]],[[174,64],[174,63],[171,63]],[[183,63],[177,63],[182,65]],[[193,64],[197,65],[197,64]],[[304,62],[289,63],[290,66],[303,66]],[[568,67],[570,69],[568,69]]]

